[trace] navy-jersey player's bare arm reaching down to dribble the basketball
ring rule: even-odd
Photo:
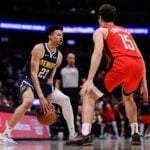
[[[33,82],[33,85],[35,87],[35,90],[38,94],[39,101],[41,107],[47,109],[47,100],[44,97],[44,94],[41,90],[40,83],[38,80],[38,72],[39,72],[39,63],[40,63],[40,58],[43,55],[43,46],[41,44],[35,45],[33,50],[32,50],[32,56],[31,56],[31,79]]]

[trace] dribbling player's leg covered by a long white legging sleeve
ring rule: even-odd
[[[73,110],[69,97],[64,95],[60,90],[55,89],[50,95],[48,95],[47,99],[51,103],[55,103],[61,106],[63,116],[67,122],[70,138],[74,138],[76,136],[76,132],[74,126]]]

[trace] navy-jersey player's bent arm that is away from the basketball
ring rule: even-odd
[[[57,63],[56,63],[56,66],[53,68],[51,74],[50,74],[50,77],[48,79],[48,83],[51,84],[53,82],[53,79],[54,79],[54,76],[56,74],[56,71],[57,71],[57,68],[60,66],[61,62],[62,62],[62,54],[59,52],[58,53],[58,60],[57,60]]]

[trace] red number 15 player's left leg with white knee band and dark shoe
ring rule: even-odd
[[[91,145],[92,144],[92,121],[95,111],[95,102],[103,95],[94,85],[88,95],[82,97],[82,135],[68,142],[68,145]]]

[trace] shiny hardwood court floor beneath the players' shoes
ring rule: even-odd
[[[66,146],[64,141],[18,141],[17,145],[0,145],[0,150],[150,150],[150,139],[142,146],[131,146],[129,140],[93,141],[93,146]]]

